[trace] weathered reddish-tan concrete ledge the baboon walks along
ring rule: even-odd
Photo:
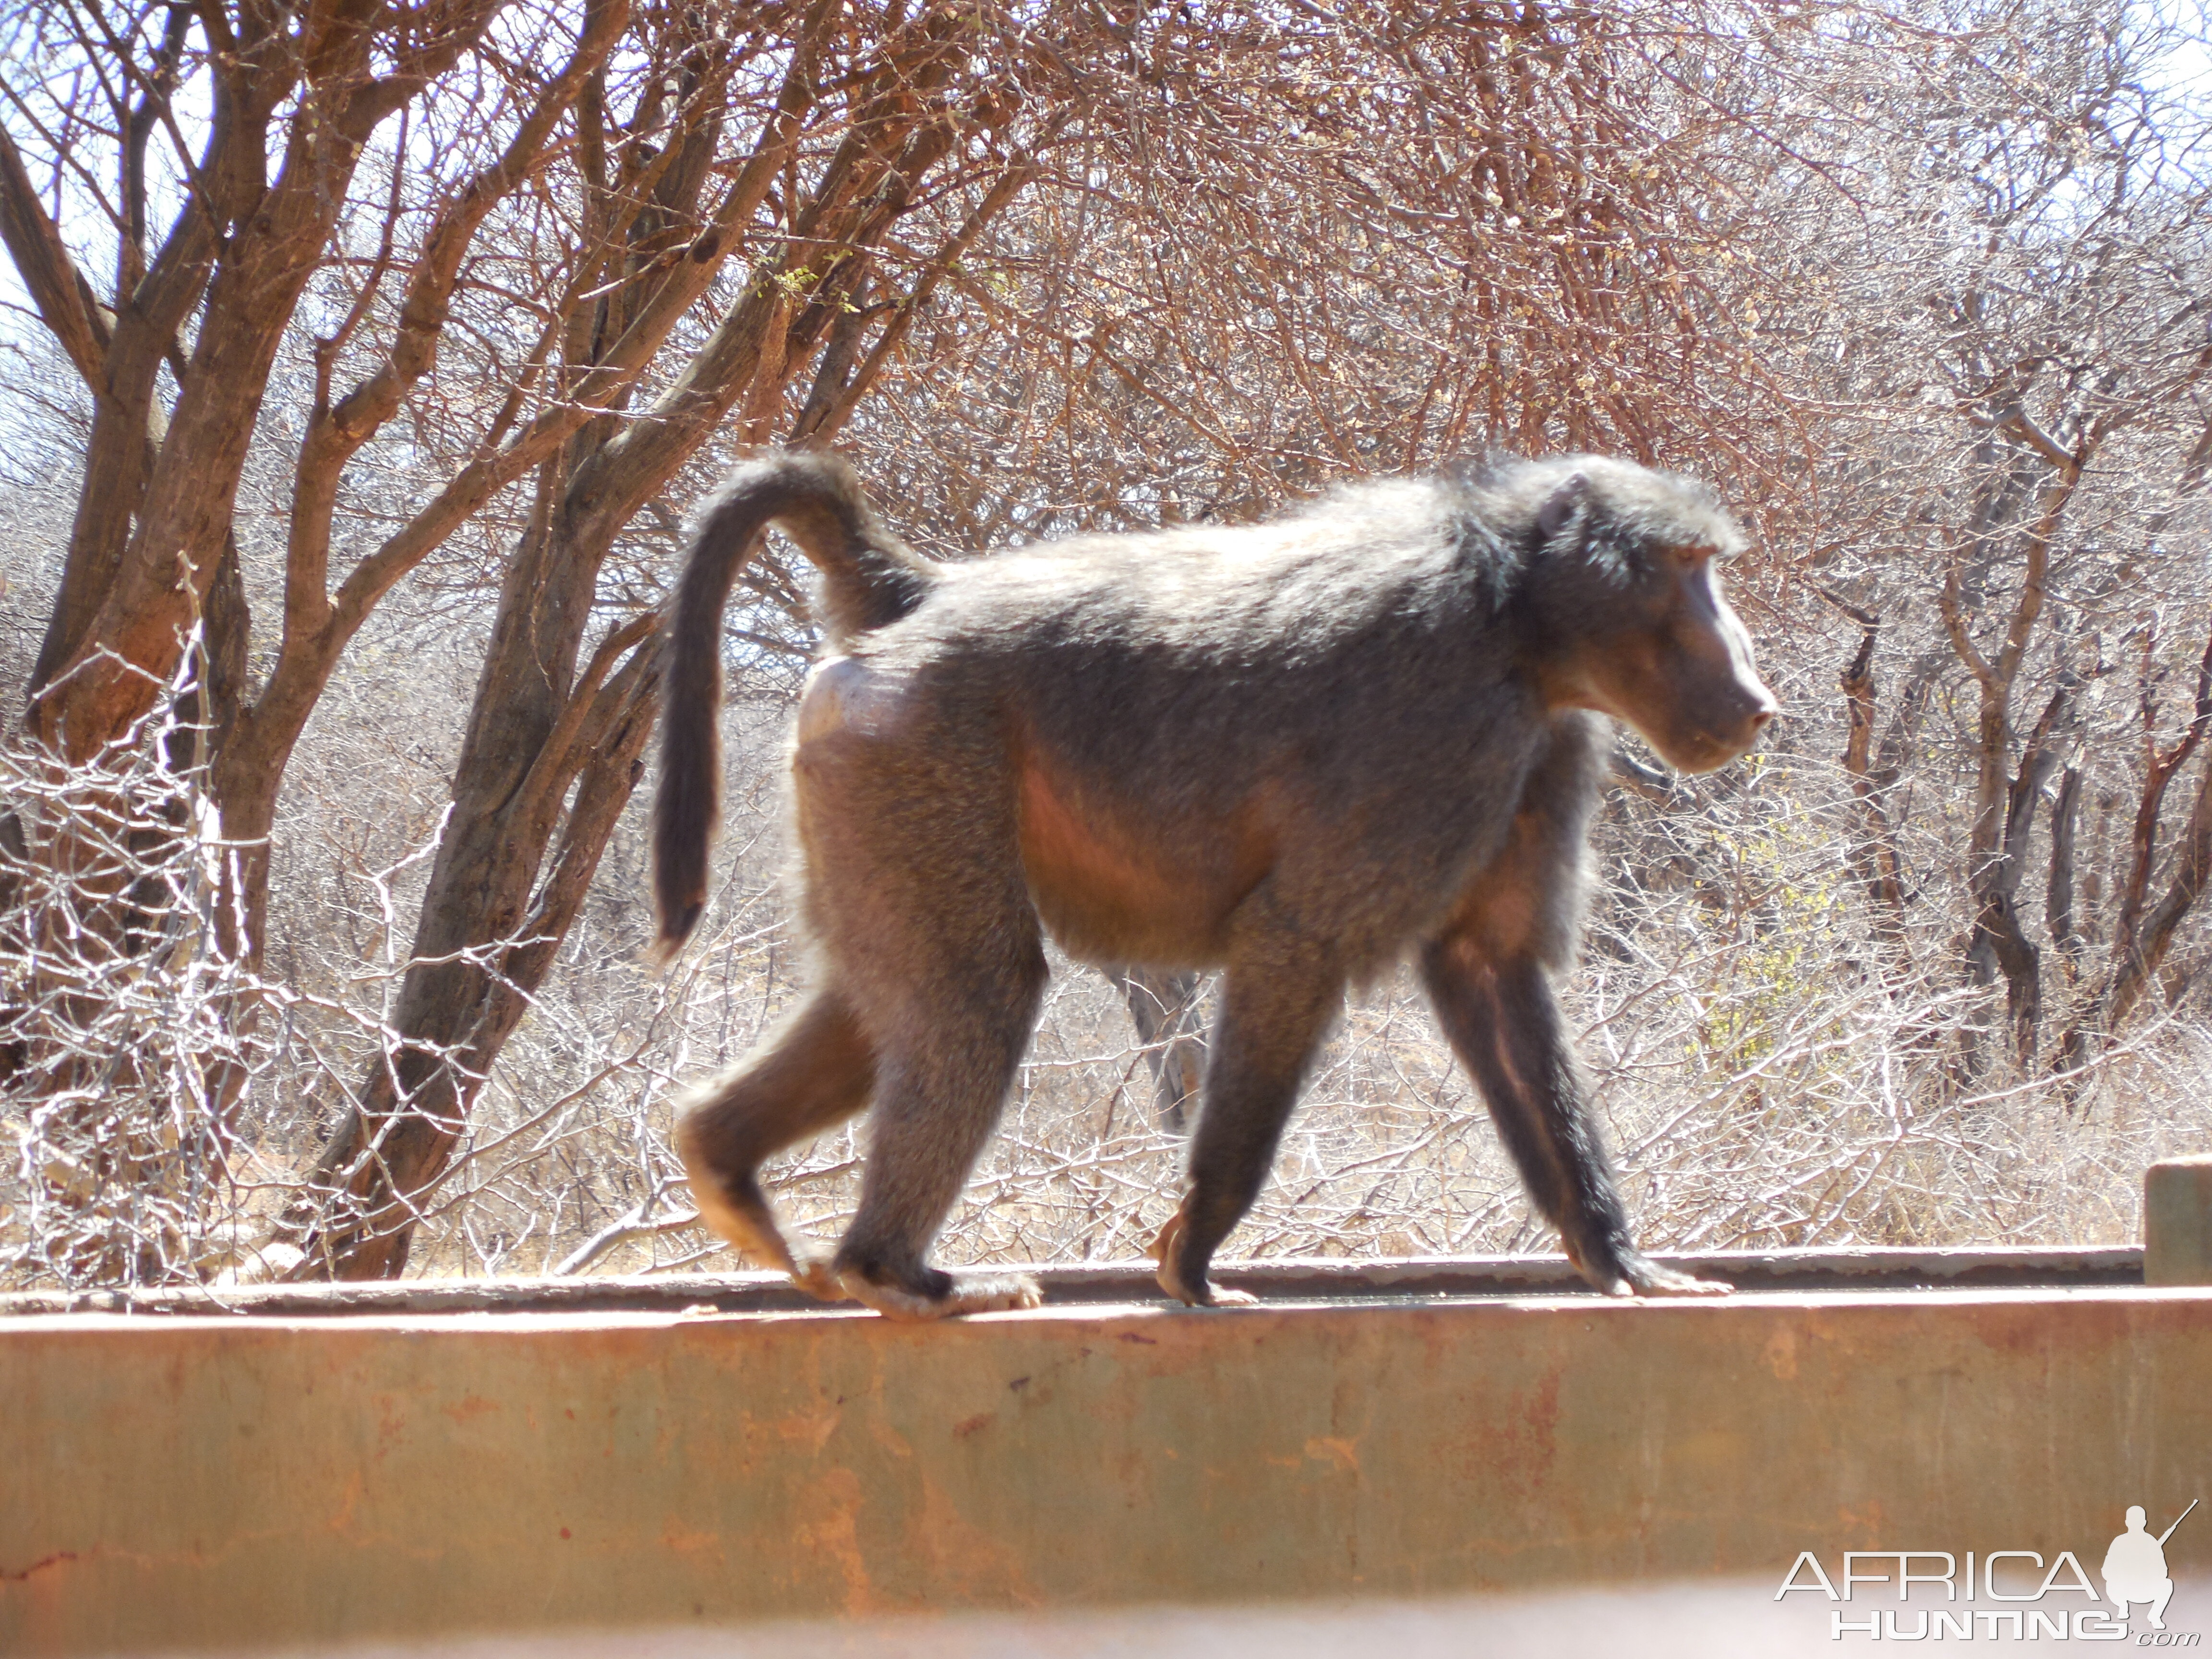
[[[27,1314],[0,1652],[2090,1559],[2212,1493],[2208,1376],[2115,1285]]]

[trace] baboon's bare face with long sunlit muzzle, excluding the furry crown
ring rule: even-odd
[[[1717,549],[1639,551],[1632,597],[1571,653],[1557,701],[1628,721],[1679,772],[1712,772],[1750,750],[1778,706],[1721,597]]]

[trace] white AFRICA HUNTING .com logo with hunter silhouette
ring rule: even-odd
[[[2097,1582],[2073,1551],[2059,1551],[2048,1566],[2039,1551],[1966,1551],[1964,1557],[1953,1551],[1847,1551],[1843,1571],[1834,1575],[1812,1551],[1801,1551],[1774,1599],[1814,1595],[1836,1601],[1827,1610],[1832,1641],[1851,1635],[1874,1641],[2132,1639],[2139,1648],[2197,1648],[2201,1632],[2166,1626],[2166,1608],[2174,1599],[2166,1540],[2190,1517],[2190,1509],[2163,1533],[2152,1533],[2143,1506],[2130,1504],[2126,1531],[2106,1546]],[[2088,1606],[2055,1597],[2086,1597]],[[1887,1599],[1920,1606],[1880,1606]],[[1938,1599],[1942,1606],[1936,1606]]]

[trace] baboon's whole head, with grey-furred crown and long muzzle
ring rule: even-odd
[[[1679,772],[1750,750],[1778,703],[1721,597],[1714,564],[1741,546],[1690,480],[1579,460],[1535,511],[1546,701],[1626,721]]]

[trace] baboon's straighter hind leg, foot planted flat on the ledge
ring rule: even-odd
[[[911,1035],[880,1057],[860,1208],[836,1252],[845,1294],[878,1314],[945,1318],[1044,1301],[1029,1274],[929,1265],[1037,1020],[1044,953],[1033,938],[1024,945],[995,971],[969,958],[918,975],[927,989],[896,1022]]]

